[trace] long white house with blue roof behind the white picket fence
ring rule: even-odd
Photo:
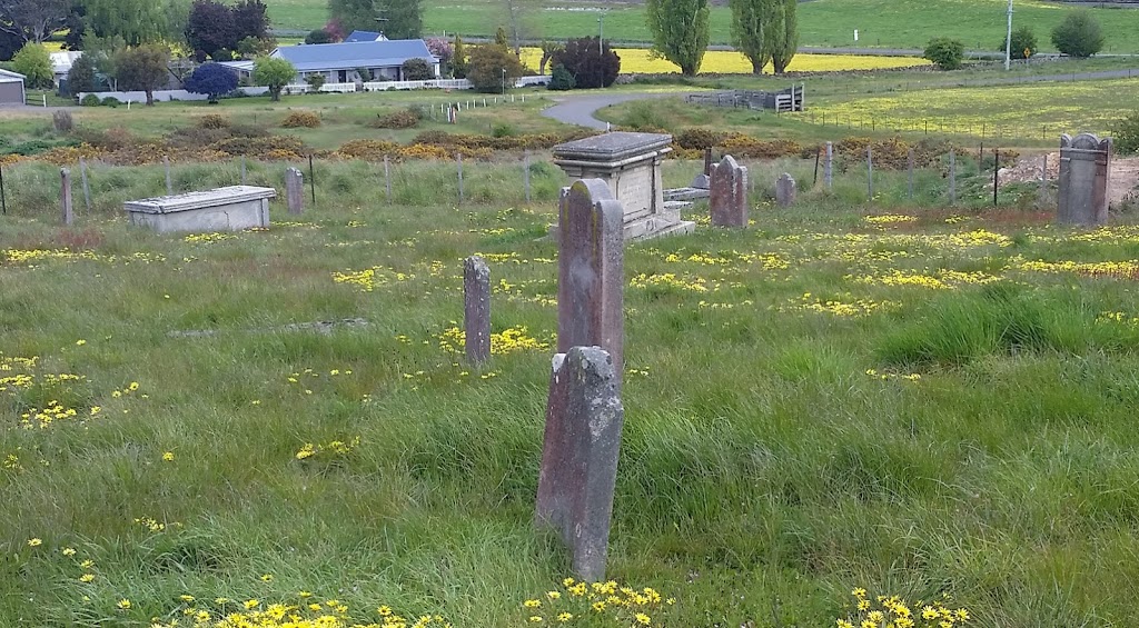
[[[439,76],[439,59],[424,40],[384,40],[309,46],[282,46],[270,57],[287,59],[296,67],[296,83],[313,74],[322,74],[329,83],[362,81],[358,69],[368,69],[374,81],[402,81],[403,61],[424,59]]]

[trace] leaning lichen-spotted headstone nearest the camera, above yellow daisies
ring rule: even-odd
[[[618,372],[600,347],[557,354],[546,405],[534,521],[558,531],[571,569],[590,582],[605,579],[609,546],[624,424]]]

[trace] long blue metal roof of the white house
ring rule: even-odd
[[[282,46],[273,57],[287,59],[297,72],[351,69],[357,67],[394,67],[408,59],[426,59],[437,64],[424,40],[361,41],[352,43],[316,43]]]

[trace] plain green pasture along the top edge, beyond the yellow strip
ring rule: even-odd
[[[323,0],[268,0],[273,25],[318,28],[327,22]],[[501,24],[500,2],[461,5],[432,0],[424,3],[425,32],[489,36]],[[527,22],[533,39],[593,35],[605,5],[547,2]],[[967,48],[995,50],[1005,40],[1007,2],[1003,0],[814,0],[798,8],[802,46],[925,48],[933,36],[961,40]],[[1139,10],[1091,9],[1104,27],[1105,52],[1139,52]],[[1014,20],[1031,26],[1042,50],[1051,50],[1049,33],[1067,8],[1040,0],[1017,0]],[[712,8],[712,43],[730,43],[731,14]],[[859,41],[853,41],[854,30]],[[650,41],[639,6],[605,7],[605,36],[617,41]]]

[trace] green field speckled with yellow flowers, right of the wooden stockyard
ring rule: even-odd
[[[1104,133],[1134,109],[1139,78],[1035,83],[985,88],[950,88],[869,96],[843,102],[812,104],[802,115],[830,124],[866,123],[876,126],[977,133],[982,125],[1021,137],[1050,137],[1060,132]],[[936,125],[936,126],[935,126]]]

